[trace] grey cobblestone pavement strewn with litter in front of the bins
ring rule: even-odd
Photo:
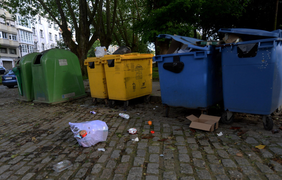
[[[200,111],[170,108],[166,118],[164,106],[157,102],[129,101],[123,111],[123,103],[109,108],[98,100],[94,106],[91,97],[57,105],[23,103],[17,97],[17,88],[0,85],[0,179],[278,180],[282,176],[282,130],[265,131],[258,115],[235,114],[232,125],[192,132],[185,117],[199,116]],[[128,120],[118,116],[124,112]],[[107,123],[107,141],[81,147],[68,123],[91,120]],[[282,117],[273,120],[278,129]],[[229,129],[232,126],[242,128]],[[129,128],[138,133],[128,134]],[[223,136],[217,136],[219,132]],[[131,140],[136,137],[138,142]],[[260,144],[266,145],[260,152],[252,149]],[[52,170],[62,160],[73,166],[59,173]]]

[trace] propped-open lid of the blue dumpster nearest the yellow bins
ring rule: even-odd
[[[166,39],[174,39],[175,41],[178,41],[180,43],[186,44],[188,48],[198,49],[198,50],[212,50],[212,46],[196,46],[197,41],[203,41],[201,39],[195,39],[185,36],[179,36],[179,35],[170,35],[170,34],[159,34],[157,36],[158,38],[166,38]]]

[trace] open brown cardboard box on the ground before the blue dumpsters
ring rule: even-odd
[[[192,121],[189,127],[210,132],[218,128],[218,121],[220,120],[220,117],[205,114],[201,114],[199,118],[194,115],[187,116],[186,118]]]

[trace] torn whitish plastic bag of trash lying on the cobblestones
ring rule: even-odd
[[[103,121],[69,122],[69,125],[78,144],[83,147],[90,147],[107,140],[108,126]]]

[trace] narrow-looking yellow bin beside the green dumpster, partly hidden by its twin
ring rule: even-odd
[[[84,60],[87,66],[92,104],[97,104],[97,98],[102,98],[107,104],[108,91],[104,64],[101,58],[91,57]]]

